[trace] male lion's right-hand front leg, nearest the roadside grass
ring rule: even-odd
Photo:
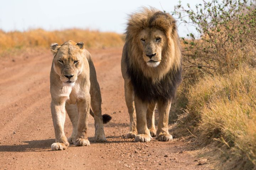
[[[171,141],[172,135],[168,131],[169,112],[171,108],[171,100],[167,102],[158,102],[159,121],[156,131],[156,139],[158,141]]]

